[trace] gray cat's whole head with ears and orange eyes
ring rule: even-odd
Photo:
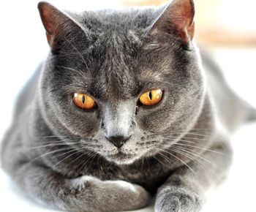
[[[41,103],[56,135],[129,164],[168,148],[195,124],[205,88],[192,0],[80,14],[39,3],[39,12],[50,45]]]

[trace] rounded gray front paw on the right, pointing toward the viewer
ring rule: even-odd
[[[197,212],[200,211],[203,200],[187,189],[167,187],[157,194],[156,212]]]

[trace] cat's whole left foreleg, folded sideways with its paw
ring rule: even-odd
[[[68,179],[38,164],[23,164],[14,175],[30,197],[64,211],[129,211],[143,208],[150,198],[145,189],[132,183],[91,176]]]

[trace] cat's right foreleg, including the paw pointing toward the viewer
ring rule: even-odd
[[[228,143],[214,143],[197,156],[195,151],[182,151],[194,158],[188,166],[180,167],[158,189],[155,211],[195,212],[205,202],[206,192],[225,178],[231,161]]]

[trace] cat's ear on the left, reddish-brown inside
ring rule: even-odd
[[[45,27],[48,44],[50,48],[57,48],[61,37],[77,24],[69,18],[69,15],[56,9],[48,2],[39,2],[38,10]]]

